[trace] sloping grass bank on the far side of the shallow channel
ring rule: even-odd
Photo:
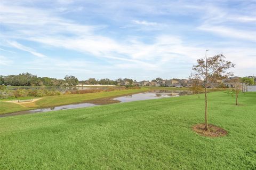
[[[110,92],[99,92],[99,93],[86,93],[86,94],[67,94],[67,95],[58,95],[58,96],[46,96],[43,99],[38,100],[33,103],[27,104],[15,104],[10,102],[5,102],[10,99],[0,100],[0,114],[6,114],[15,111],[36,109],[36,108],[45,108],[45,107],[54,107],[61,106],[71,103],[81,103],[93,99],[99,98],[108,98],[112,96],[138,93],[147,91],[148,88],[140,89],[130,89],[130,90],[115,90]],[[33,99],[34,97],[26,97],[26,99]],[[23,99],[23,98],[22,98]]]

